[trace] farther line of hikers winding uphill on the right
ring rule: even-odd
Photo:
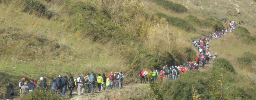
[[[215,31],[211,35],[206,35],[202,38],[199,38],[197,40],[193,39],[192,43],[193,46],[198,50],[199,55],[195,56],[194,62],[193,60],[190,60],[190,62],[184,62],[182,65],[175,66],[168,66],[165,65],[161,69],[161,71],[158,73],[158,70],[151,69],[149,72],[147,69],[143,69],[139,72],[140,76],[140,83],[147,84],[148,81],[155,82],[156,78],[160,78],[160,80],[163,80],[163,78],[166,79],[173,79],[176,80],[180,73],[184,73],[186,71],[190,71],[193,69],[199,69],[199,64],[202,64],[202,68],[205,68],[205,64],[209,64],[211,60],[214,60],[217,58],[217,54],[215,53],[213,56],[211,55],[211,51],[209,50],[209,44],[211,39],[217,39],[218,37],[221,38],[223,36],[226,36],[226,34],[229,32],[228,29],[230,29],[230,33],[235,29],[236,25],[243,24],[243,21],[229,21],[229,26],[226,27],[226,29],[223,29],[222,31]]]

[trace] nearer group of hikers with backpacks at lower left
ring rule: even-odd
[[[24,96],[28,93],[33,92],[35,89],[50,89],[51,91],[56,92],[58,95],[65,95],[67,88],[69,89],[69,97],[72,96],[72,90],[76,88],[76,93],[78,96],[83,95],[83,93],[99,93],[100,91],[106,91],[107,89],[119,88],[122,89],[122,82],[124,75],[122,72],[110,72],[108,76],[102,75],[99,73],[96,76],[95,73],[87,74],[86,76],[79,75],[76,78],[70,76],[69,79],[67,76],[58,75],[57,78],[52,78],[52,82],[48,86],[46,83],[46,78],[40,77],[39,80],[29,80],[27,82],[25,77],[22,77],[22,80],[19,82],[18,86],[20,88],[20,95]],[[98,91],[97,88],[98,87]],[[6,90],[6,99],[9,100],[14,95],[13,85],[9,84]]]

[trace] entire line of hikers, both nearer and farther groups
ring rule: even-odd
[[[147,84],[148,81],[156,82],[157,78],[163,80],[166,79],[173,79],[176,80],[180,73],[184,73],[186,71],[190,71],[193,69],[199,69],[199,64],[202,64],[202,68],[204,69],[205,64],[209,64],[209,61],[212,59],[214,60],[217,58],[217,54],[211,55],[211,51],[209,50],[209,43],[211,39],[217,39],[218,37],[221,38],[228,33],[228,29],[230,29],[230,33],[235,29],[237,24],[243,24],[243,22],[235,22],[230,21],[229,26],[222,31],[215,31],[215,33],[204,36],[203,38],[199,38],[197,40],[193,39],[192,43],[195,48],[197,48],[199,55],[195,56],[195,63],[191,60],[190,62],[184,62],[182,65],[178,66],[168,66],[165,65],[159,71],[151,69],[149,72],[147,69],[143,69],[139,72],[140,76],[140,83]],[[82,93],[97,93],[96,86],[98,86],[98,92],[101,90],[105,91],[106,88],[112,89],[113,87],[117,87],[122,89],[122,81],[124,79],[124,75],[122,72],[111,72],[108,76],[105,76],[103,73],[98,74],[96,77],[95,73],[87,74],[86,76],[79,75],[77,78],[73,78],[70,76],[69,79],[67,76],[59,75],[57,78],[53,78],[52,82],[50,83],[50,90],[55,91],[59,95],[65,95],[67,87],[69,88],[69,97],[72,96],[72,90],[76,87],[76,93],[80,96]],[[36,82],[35,79],[29,80],[26,82],[26,78],[22,77],[22,81],[19,82],[20,88],[20,95],[25,95],[27,93],[33,92],[33,89],[46,89],[48,85],[46,84],[46,78],[39,78]],[[6,90],[6,99],[9,100],[13,95],[13,85],[9,84]]]

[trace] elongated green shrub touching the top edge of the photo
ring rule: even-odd
[[[166,0],[153,0],[154,3],[161,5],[167,9],[171,9],[172,11],[176,13],[184,13],[187,12],[187,8],[181,4],[176,4],[171,1],[166,1]]]

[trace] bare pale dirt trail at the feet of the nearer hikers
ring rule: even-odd
[[[130,97],[139,97],[143,95],[140,91],[140,86],[145,84],[127,84],[124,85],[123,89],[113,88],[112,90],[106,89],[106,91],[101,91],[100,93],[87,93],[81,96],[78,96],[77,93],[73,93],[70,100],[117,100],[122,97],[121,100],[127,99]],[[146,84],[147,85],[147,84]],[[75,91],[74,91],[75,92]]]

